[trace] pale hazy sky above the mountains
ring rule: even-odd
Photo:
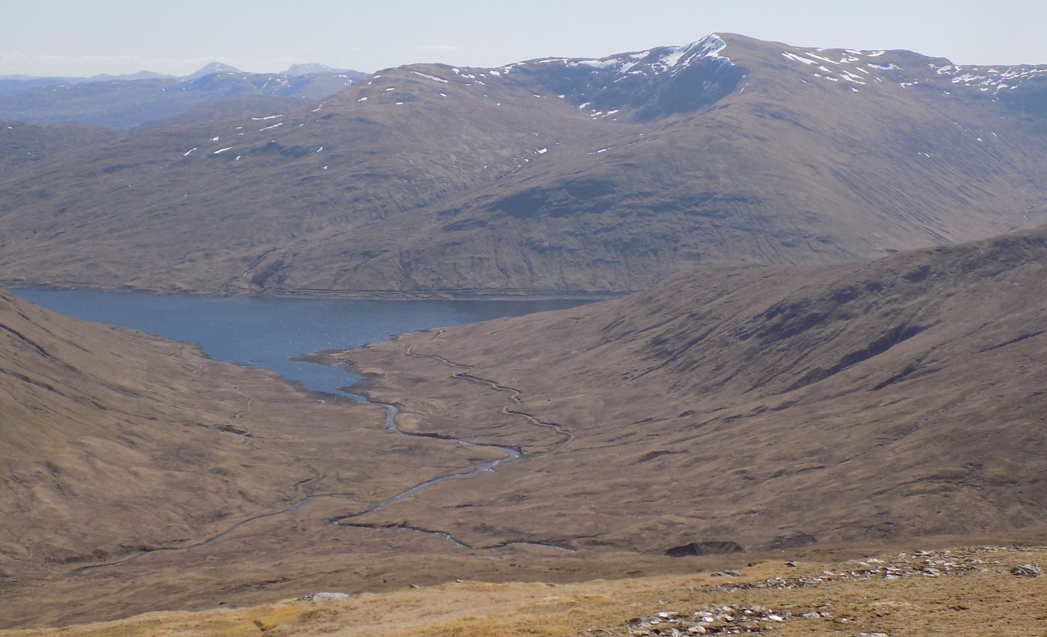
[[[248,71],[495,66],[714,31],[960,64],[1047,63],[1047,0],[3,0],[0,74],[183,74],[215,60]]]

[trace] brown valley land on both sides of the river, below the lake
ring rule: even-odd
[[[1034,534],[1045,263],[1047,228],[721,265],[328,356],[384,373],[401,431],[521,454],[379,509],[507,452],[398,437],[377,408],[4,296],[0,628]]]

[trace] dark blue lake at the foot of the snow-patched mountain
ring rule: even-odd
[[[154,296],[89,290],[12,290],[88,321],[199,343],[215,359],[266,367],[314,391],[337,393],[359,377],[290,359],[349,349],[391,335],[574,308],[583,300],[386,301],[310,298]]]

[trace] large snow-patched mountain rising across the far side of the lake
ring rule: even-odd
[[[136,133],[0,177],[0,278],[605,293],[698,264],[986,237],[1047,219],[1045,76],[728,35],[388,69],[322,104]],[[46,197],[29,195],[41,183]]]

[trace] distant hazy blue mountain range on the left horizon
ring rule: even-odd
[[[287,98],[283,105],[290,105],[291,99],[319,99],[362,76],[321,64],[294,65],[284,73],[247,73],[213,62],[180,77],[150,71],[92,77],[0,77],[0,119],[125,130],[232,97]],[[240,104],[254,103],[232,101],[211,110],[224,117],[251,112],[236,110]]]

